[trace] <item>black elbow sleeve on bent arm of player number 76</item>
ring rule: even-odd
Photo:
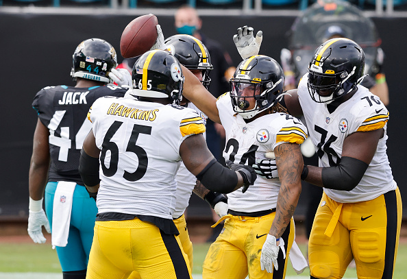
[[[351,157],[342,157],[336,167],[322,169],[323,186],[327,189],[351,191],[358,186],[369,165]]]

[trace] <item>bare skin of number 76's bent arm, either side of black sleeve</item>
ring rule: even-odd
[[[350,134],[343,141],[342,156],[356,158],[369,165],[383,135],[383,129]],[[323,187],[322,169],[321,167],[308,166],[308,176],[305,181]]]

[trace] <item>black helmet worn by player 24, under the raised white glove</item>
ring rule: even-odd
[[[242,96],[243,89],[251,86],[253,96]],[[259,112],[275,104],[283,92],[284,72],[273,58],[269,56],[251,56],[240,62],[230,80],[230,97],[235,112],[244,119],[251,119]],[[247,98],[256,99],[256,106],[251,110]]]

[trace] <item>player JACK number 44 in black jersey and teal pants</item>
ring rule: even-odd
[[[126,89],[108,84],[116,64],[112,45],[99,38],[84,40],[73,53],[71,76],[76,85],[47,86],[33,101],[38,121],[29,167],[28,234],[35,243],[45,243],[41,228],[50,232],[51,225],[64,279],[86,276],[97,207],[77,168],[92,126],[86,114],[93,101],[125,94]]]

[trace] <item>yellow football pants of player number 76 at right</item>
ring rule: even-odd
[[[358,278],[393,278],[401,223],[398,188],[352,204],[323,193],[308,242],[312,278],[342,278],[353,258]]]

